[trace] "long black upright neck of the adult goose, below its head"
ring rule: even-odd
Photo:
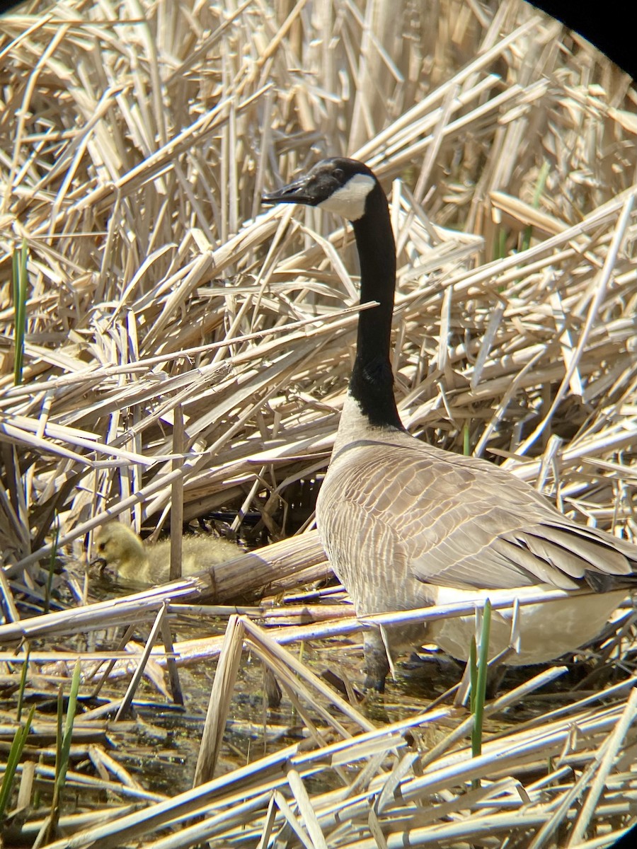
[[[353,222],[353,228],[360,259],[360,302],[378,301],[380,306],[364,310],[358,317],[356,360],[349,391],[370,424],[403,430],[389,361],[396,245],[387,199],[379,183],[369,193],[365,214]]]

